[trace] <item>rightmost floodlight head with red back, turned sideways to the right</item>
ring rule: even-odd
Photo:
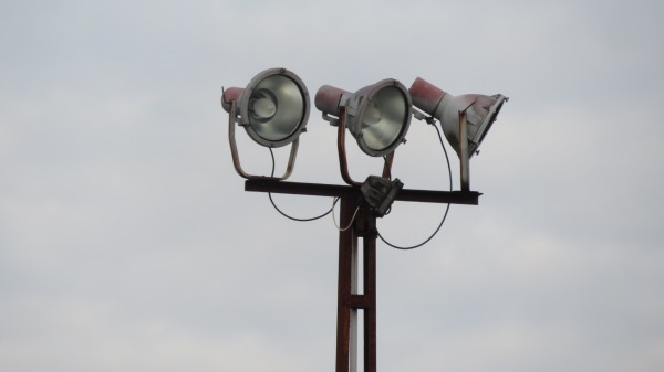
[[[440,121],[447,141],[459,157],[459,113],[466,111],[468,158],[479,152],[479,144],[484,140],[496,120],[507,97],[497,94],[485,96],[466,94],[453,96],[435,85],[417,77],[411,86],[413,105]]]

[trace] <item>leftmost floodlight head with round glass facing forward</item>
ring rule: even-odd
[[[286,68],[266,70],[246,88],[224,91],[221,106],[226,111],[232,102],[239,125],[259,145],[281,147],[305,130],[309,92],[300,77]]]

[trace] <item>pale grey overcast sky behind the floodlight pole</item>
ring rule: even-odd
[[[663,17],[658,0],[3,1],[0,370],[334,369],[333,221],[282,217],[230,158],[221,86],[271,67],[312,97],[417,76],[510,97],[471,161],[479,205],[418,249],[378,242],[380,371],[664,370]],[[433,128],[407,139],[394,176],[446,190]],[[335,140],[312,107],[291,180],[341,184]],[[380,168],[349,152],[356,179]],[[397,202],[378,228],[416,244],[443,212]]]

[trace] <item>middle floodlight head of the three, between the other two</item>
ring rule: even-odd
[[[405,141],[412,115],[411,95],[396,79],[384,79],[351,94],[324,85],[315,95],[315,107],[323,118],[336,124],[340,108],[345,107],[345,127],[360,149],[372,157],[387,155]]]

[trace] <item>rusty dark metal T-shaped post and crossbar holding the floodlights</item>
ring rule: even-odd
[[[360,188],[250,179],[245,182],[245,190],[340,198],[340,225],[349,228],[339,232],[335,372],[356,371],[357,310],[363,312],[364,372],[376,372],[376,216],[369,209],[361,206]],[[477,205],[479,195],[481,193],[468,190],[449,192],[404,189],[395,200]],[[362,290],[359,290],[357,286],[359,238],[362,238]]]

